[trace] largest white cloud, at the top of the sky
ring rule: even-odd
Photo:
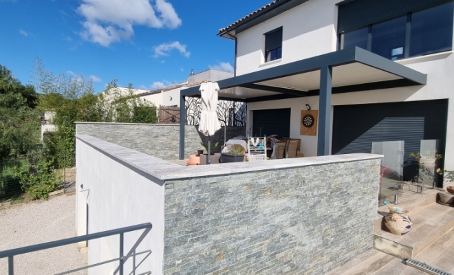
[[[182,21],[166,0],[82,0],[77,11],[85,17],[83,39],[108,47],[128,40],[134,25],[149,28],[177,28]]]

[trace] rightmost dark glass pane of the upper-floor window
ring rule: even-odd
[[[452,49],[453,10],[451,2],[411,14],[410,56]]]

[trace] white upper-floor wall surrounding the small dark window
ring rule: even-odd
[[[338,0],[307,1],[237,35],[237,76],[336,51]],[[282,58],[264,63],[265,34],[283,27]]]

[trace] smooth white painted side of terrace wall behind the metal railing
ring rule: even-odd
[[[140,243],[136,252],[151,249],[152,254],[136,271],[136,274],[151,270],[152,274],[162,274],[164,255],[164,187],[142,177],[103,153],[80,140],[76,140],[76,228],[77,235],[85,234],[85,198],[80,192],[89,188],[88,233],[101,232],[151,222],[153,229]],[[132,199],[134,198],[134,199]],[[125,234],[125,254],[143,230]],[[118,257],[119,237],[89,241],[89,264],[107,261]],[[142,261],[140,255],[136,263]],[[118,263],[94,267],[89,274],[113,274]],[[132,259],[125,263],[125,274],[131,272]]]

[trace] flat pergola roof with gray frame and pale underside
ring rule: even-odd
[[[338,88],[334,93],[425,85],[427,81],[426,74],[354,47],[219,80],[219,96],[246,101],[267,96],[282,98],[282,94],[314,96],[320,89],[322,67],[332,67],[332,87]],[[182,96],[197,95],[198,89],[188,88]]]

